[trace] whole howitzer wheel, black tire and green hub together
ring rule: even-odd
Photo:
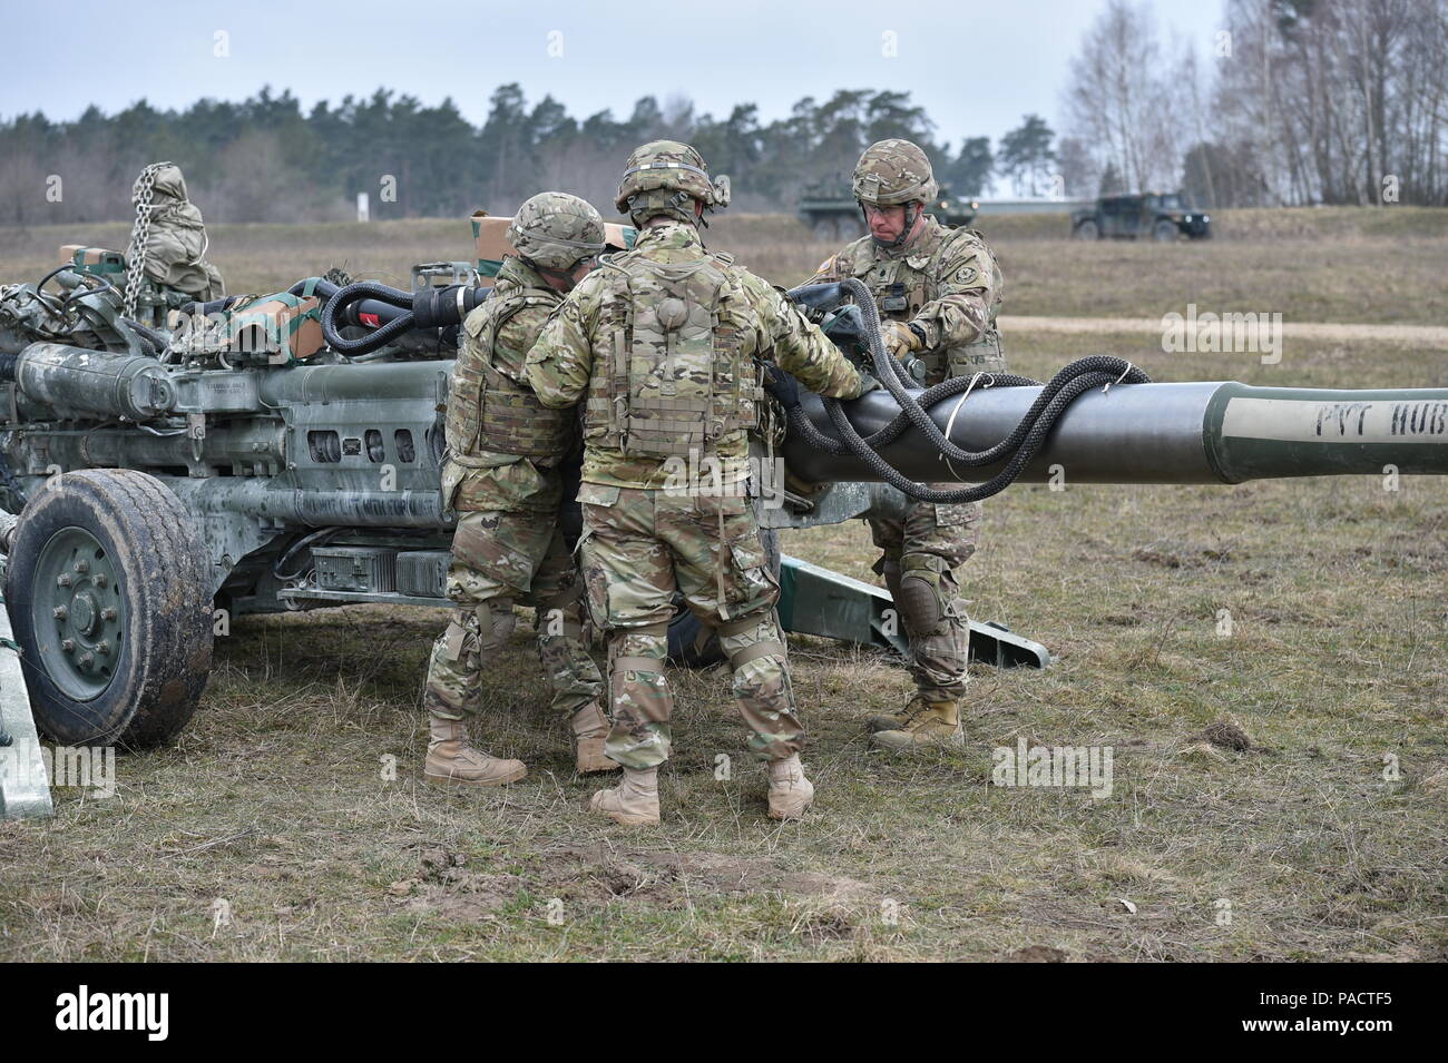
[[[153,476],[54,477],[20,516],[6,603],[41,732],[151,746],[195,712],[211,594],[191,518]]]

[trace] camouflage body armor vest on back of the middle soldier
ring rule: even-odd
[[[604,259],[608,364],[594,373],[591,441],[630,457],[689,457],[759,425],[762,388],[738,330],[721,320],[733,259]]]

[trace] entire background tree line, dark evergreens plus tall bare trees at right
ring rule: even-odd
[[[1206,54],[1203,58],[1203,52]],[[1211,42],[1163,39],[1142,0],[1109,0],[1067,72],[1057,136],[1038,114],[996,145],[940,139],[909,93],[840,90],[762,121],[683,97],[640,98],[627,117],[576,117],[552,95],[498,87],[482,124],[452,100],[379,88],[304,110],[264,88],[184,110],[139,101],[74,121],[0,120],[0,224],[130,215],[130,182],[181,165],[211,221],[507,214],[539,189],[611,213],[627,152],[650,139],[698,146],[734,182],[737,208],[789,211],[811,187],[847,194],[866,145],[906,137],[957,197],[993,181],[1016,195],[1184,189],[1205,207],[1448,205],[1448,0],[1224,0]]]

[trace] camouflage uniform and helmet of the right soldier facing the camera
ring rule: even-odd
[[[866,175],[872,169],[867,162],[872,152],[899,166],[899,145],[906,142],[883,142],[866,152],[862,159]],[[885,150],[877,150],[882,148]],[[885,176],[898,182],[902,175],[889,172]],[[931,189],[927,200],[934,195],[928,169],[905,174],[905,178]],[[860,171],[856,192],[869,195],[867,185],[862,189]],[[1001,269],[979,233],[925,217],[922,229],[896,246],[882,246],[872,236],[856,240],[827,259],[812,281],[851,276],[875,295],[882,324],[911,323],[924,333],[917,370],[924,386],[954,376],[1006,372],[995,325]],[[904,360],[911,363],[909,357]],[[931,486],[954,489],[960,484]],[[869,519],[875,545],[883,551],[875,571],[885,577],[901,610],[911,641],[911,674],[924,701],[956,700],[966,688],[969,622],[953,570],[975,554],[980,518],[979,502],[909,502],[902,519]]]

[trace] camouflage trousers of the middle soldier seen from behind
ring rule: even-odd
[[[766,761],[796,754],[804,727],[775,615],[779,584],[749,500],[597,483],[578,498],[588,607],[608,632],[608,756],[626,768],[669,759],[673,694],[663,662],[675,592],[720,635],[750,749]]]

